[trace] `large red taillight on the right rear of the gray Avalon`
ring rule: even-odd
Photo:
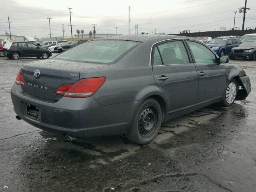
[[[64,97],[90,97],[106,81],[105,77],[85,78],[77,81],[75,84],[63,84],[56,91],[56,95]]]

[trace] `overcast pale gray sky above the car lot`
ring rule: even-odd
[[[12,34],[49,36],[48,17],[52,18],[52,36],[71,36],[69,10],[72,9],[73,35],[76,30],[88,34],[96,23],[97,33],[128,34],[128,6],[131,7],[131,34],[135,24],[139,32],[178,33],[227,30],[233,27],[234,12],[244,6],[245,0],[0,0],[0,34],[8,31],[10,17]],[[245,27],[256,26],[256,3],[248,0]],[[243,14],[236,13],[236,27],[242,28]]]

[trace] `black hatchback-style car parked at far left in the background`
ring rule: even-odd
[[[46,49],[36,46],[30,42],[13,42],[9,50],[7,50],[7,57],[9,59],[18,59],[20,57],[42,57],[47,59],[52,56],[52,53]]]

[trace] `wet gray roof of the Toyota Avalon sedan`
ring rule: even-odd
[[[98,38],[95,40],[126,40],[126,41],[138,41],[146,42],[148,40],[153,40],[155,42],[168,40],[168,39],[192,39],[191,37],[177,36],[177,35],[118,35],[112,37]]]

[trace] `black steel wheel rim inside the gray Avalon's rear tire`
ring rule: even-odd
[[[144,138],[151,136],[156,129],[158,114],[153,106],[147,107],[140,113],[138,128],[140,135]]]

